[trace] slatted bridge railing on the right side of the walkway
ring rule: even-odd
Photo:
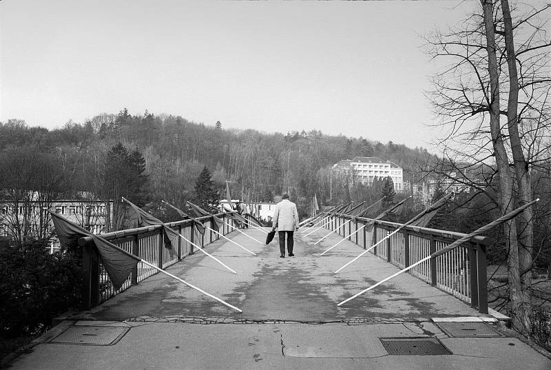
[[[387,221],[375,221],[372,230],[367,227],[352,235],[357,229],[366,225],[369,218],[356,218],[346,214],[331,214],[316,220],[316,227],[331,222],[324,227],[335,230],[343,238],[348,238],[363,249],[371,247],[391,234],[402,224]],[[413,265],[435,251],[442,249],[455,240],[465,236],[456,232],[446,232],[426,227],[407,226],[384,240],[370,252],[400,268]],[[475,236],[459,247],[413,267],[408,273],[429,284],[446,291],[464,302],[476,307],[481,314],[488,314],[488,289],[486,287],[486,245],[487,238]]]

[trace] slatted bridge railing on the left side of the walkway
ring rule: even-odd
[[[217,214],[216,216],[225,221],[218,232],[222,235],[229,234],[233,229],[227,226],[226,223],[233,225],[233,221],[227,218],[225,214]],[[205,226],[216,229],[210,216],[197,219],[202,221]],[[181,220],[165,225],[168,225],[178,232],[178,234],[184,236],[189,242],[200,247],[205,247],[221,238],[220,235],[209,229],[206,229],[205,234],[201,235],[191,220]],[[134,256],[162,269],[178,263],[185,256],[194,254],[194,246],[183,238],[180,238],[180,236],[171,237],[172,249],[165,247],[161,225],[126,229],[103,234],[101,237],[130,254],[134,254]],[[140,262],[123,283],[122,287],[115,290],[109,276],[107,276],[107,271],[105,271],[101,263],[101,258],[98,257],[96,249],[84,243],[82,307],[83,309],[90,309],[99,305],[101,302],[105,302],[105,300],[112,298],[132,285],[137,285],[138,282],[154,274],[158,274],[156,269]]]

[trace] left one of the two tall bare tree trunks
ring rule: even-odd
[[[488,52],[488,72],[490,74],[490,96],[487,96],[490,107],[490,133],[495,154],[495,161],[499,172],[499,202],[501,214],[512,212],[514,208],[512,196],[512,173],[503,135],[499,124],[499,74],[495,45],[492,0],[481,0],[484,10],[484,28],[486,31],[486,51]],[[511,300],[512,325],[519,330],[526,328],[526,307],[524,306],[523,291],[519,274],[519,248],[517,243],[517,227],[513,220],[503,223],[505,243],[508,250],[508,278],[509,295]]]

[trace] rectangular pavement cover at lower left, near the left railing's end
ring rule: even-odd
[[[129,331],[129,327],[68,327],[50,343],[69,345],[114,345]]]

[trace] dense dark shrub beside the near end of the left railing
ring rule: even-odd
[[[81,302],[81,255],[29,241],[0,249],[0,336],[37,336]]]

